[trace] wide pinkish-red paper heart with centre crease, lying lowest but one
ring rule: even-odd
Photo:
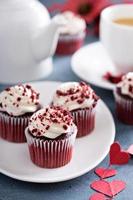
[[[125,189],[126,183],[119,180],[114,180],[112,182],[107,182],[105,180],[98,180],[94,181],[90,186],[97,192],[105,194],[109,197],[113,197]]]

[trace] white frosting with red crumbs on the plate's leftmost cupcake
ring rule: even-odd
[[[39,93],[30,85],[16,85],[0,93],[0,111],[21,116],[38,109]]]

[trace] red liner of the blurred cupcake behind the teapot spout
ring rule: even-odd
[[[64,39],[63,39],[64,38]],[[56,48],[56,54],[59,55],[70,55],[73,54],[75,51],[77,51],[81,46],[84,44],[84,38],[85,34],[82,37],[68,37],[65,36],[62,38],[59,38],[57,48]]]

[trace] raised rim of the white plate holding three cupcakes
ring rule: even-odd
[[[46,83],[46,84],[54,84],[54,83],[57,83],[57,84],[60,84],[62,83],[61,81],[35,81],[35,82],[29,82],[31,85],[33,84],[42,84],[42,83]],[[115,135],[116,135],[116,126],[115,126],[115,122],[114,122],[114,118],[113,118],[113,115],[110,111],[110,109],[108,108],[108,106],[106,105],[106,103],[101,99],[100,100],[101,103],[103,104],[103,106],[106,108],[108,114],[110,115],[110,118],[111,118],[111,121],[112,121],[112,137],[110,139],[110,144],[112,144],[114,142],[114,139],[115,139]],[[26,143],[24,143],[26,144]],[[13,173],[10,173],[8,172],[7,170],[4,170],[0,167],[0,173],[10,177],[10,178],[13,178],[13,179],[16,179],[16,180],[19,180],[19,181],[24,181],[24,182],[31,182],[31,183],[56,183],[56,182],[64,182],[64,181],[68,181],[68,180],[72,180],[74,178],[77,178],[77,177],[80,177],[88,172],[90,172],[92,169],[94,169],[98,164],[100,164],[104,159],[105,157],[107,156],[109,152],[109,149],[107,148],[106,151],[103,153],[103,155],[101,156],[101,158],[96,161],[91,167],[88,167],[88,168],[85,168],[85,170],[82,170],[80,173],[79,172],[76,172],[76,174],[74,175],[68,175],[67,177],[65,176],[65,178],[62,178],[62,177],[58,177],[56,180],[52,181],[51,179],[47,179],[47,180],[42,180],[42,179],[37,179],[35,180],[35,178],[27,178],[27,177],[22,177],[22,176],[19,176],[19,175],[15,175]]]

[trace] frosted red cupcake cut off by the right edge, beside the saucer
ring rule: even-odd
[[[122,77],[114,90],[116,113],[123,123],[133,125],[133,72]]]

